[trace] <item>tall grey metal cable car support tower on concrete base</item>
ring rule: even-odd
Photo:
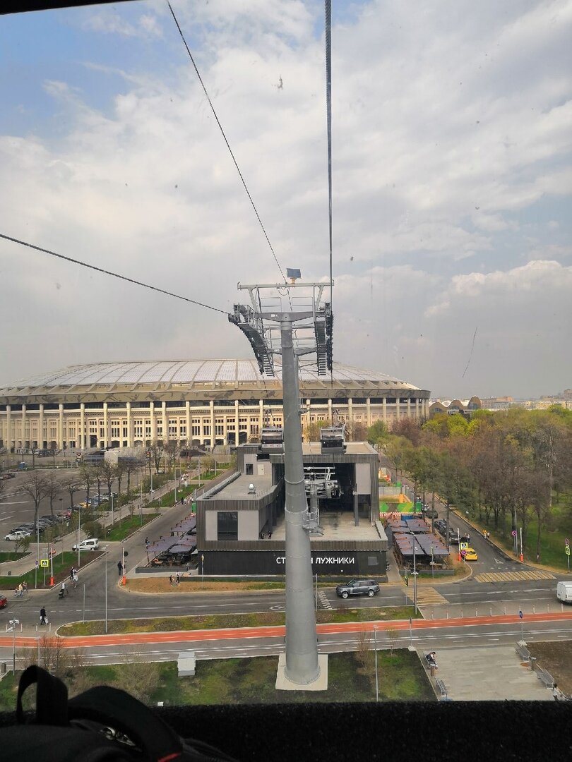
[[[230,322],[248,338],[260,373],[273,376],[274,355],[281,354],[282,359],[286,655],[285,665],[278,664],[277,687],[285,690],[327,687],[327,671],[323,674],[320,668],[320,661],[326,663],[326,657],[318,657],[310,552],[310,531],[316,528],[317,517],[315,511],[308,510],[304,487],[298,385],[300,355],[316,354],[320,375],[325,376],[332,368],[333,316],[329,303],[322,302],[326,286],[329,283],[239,284],[239,289],[249,291],[250,306],[235,305],[233,315],[229,315]]]

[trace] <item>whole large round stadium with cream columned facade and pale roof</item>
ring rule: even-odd
[[[281,367],[255,360],[76,365],[0,389],[0,447],[87,450],[178,441],[242,444],[283,424]],[[371,426],[429,417],[429,391],[334,363],[331,376],[300,367],[302,429],[323,419]]]

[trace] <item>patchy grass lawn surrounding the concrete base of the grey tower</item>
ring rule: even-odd
[[[63,679],[70,696],[108,684],[146,703],[162,701],[166,706],[375,701],[371,650],[330,654],[326,691],[275,690],[277,667],[278,657],[207,660],[197,662],[194,677],[178,677],[174,661],[136,662],[64,668]],[[395,650],[393,655],[378,651],[378,676],[381,701],[435,701],[419,657],[407,649]],[[8,674],[0,682],[0,710],[14,710],[16,690],[14,677]],[[31,700],[28,697],[30,705]]]

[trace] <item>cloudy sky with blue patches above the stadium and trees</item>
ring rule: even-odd
[[[333,0],[334,359],[572,387],[572,0]],[[329,278],[323,2],[172,0],[280,267]],[[0,17],[0,233],[232,312],[280,271],[168,5]],[[225,315],[0,239],[0,386],[251,357]]]

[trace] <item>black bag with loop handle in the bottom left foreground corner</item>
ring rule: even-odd
[[[22,694],[36,689],[35,721],[26,724]],[[180,738],[124,690],[99,686],[68,700],[62,680],[35,665],[21,675],[18,725],[2,728],[2,762],[235,762],[201,741]]]

